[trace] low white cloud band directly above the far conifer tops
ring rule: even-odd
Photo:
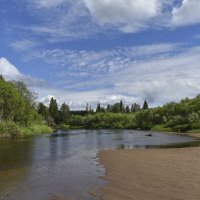
[[[93,90],[93,91],[64,91],[62,89],[51,88],[49,90],[43,90],[38,88],[39,101],[49,104],[51,97],[54,97],[58,104],[61,105],[63,102],[67,103],[72,110],[81,110],[86,108],[88,103],[92,108],[96,108],[97,103],[101,103],[102,106],[106,107],[107,104],[114,104],[123,100],[125,104],[131,104],[133,102],[140,103],[142,99],[139,97],[126,96],[120,94],[110,94],[109,90]],[[49,95],[51,94],[51,95]]]

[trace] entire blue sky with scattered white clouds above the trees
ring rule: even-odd
[[[200,93],[199,0],[0,0],[0,73],[48,103]]]

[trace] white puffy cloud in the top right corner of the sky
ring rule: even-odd
[[[178,8],[172,11],[172,24],[174,26],[183,26],[200,23],[200,1],[183,0]]]

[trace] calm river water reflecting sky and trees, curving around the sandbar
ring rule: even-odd
[[[97,199],[105,182],[96,154],[102,149],[199,145],[193,138],[142,131],[73,130],[0,141],[0,200]]]

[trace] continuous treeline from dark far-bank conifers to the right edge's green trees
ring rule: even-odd
[[[95,111],[88,104],[83,111],[70,111],[65,103],[59,109],[56,100],[52,98],[49,107],[40,103],[38,112],[49,125],[60,125],[66,129],[200,131],[200,95],[156,108],[149,108],[146,100],[142,107],[137,103],[124,105],[122,101],[106,107],[99,103]]]

